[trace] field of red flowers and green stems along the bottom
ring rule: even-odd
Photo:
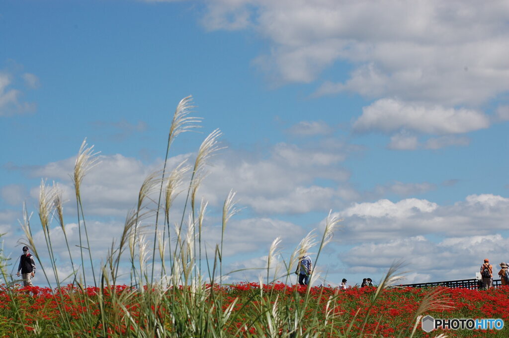
[[[210,288],[210,286],[209,286]],[[305,303],[302,320],[299,321],[300,332],[306,333],[308,327],[317,336],[365,336],[365,337],[396,337],[410,336],[414,324],[415,313],[419,305],[430,292],[438,294],[440,299],[430,302],[425,313],[434,318],[500,318],[504,322],[509,320],[509,289],[497,288],[488,291],[467,289],[417,289],[392,288],[384,290],[375,301],[376,288],[350,288],[338,290],[332,287],[287,286],[282,283],[264,285],[260,289],[257,283],[240,283],[224,287],[214,286],[214,292],[209,298],[199,301],[217,306],[220,298],[222,312],[231,312],[228,321],[220,323],[225,336],[267,336],[269,328],[265,318],[271,316],[273,323],[277,318],[285,318],[283,313],[293,313]],[[27,293],[30,292],[30,293]],[[130,289],[127,286],[79,289],[67,286],[60,290],[49,288],[31,289],[0,289],[0,336],[29,337],[29,336],[94,336],[94,337],[127,337],[141,336],[134,332],[134,322],[148,321],[144,314],[140,314],[139,298],[150,290]],[[189,292],[168,289],[168,299],[182,301],[182,299],[196,299],[179,297],[175,292]],[[111,297],[120,297],[123,304],[109,306]],[[101,300],[101,301],[99,301]],[[449,304],[436,306],[434,304]],[[269,306],[270,311],[264,311]],[[172,314],[172,304],[159,303],[152,306],[152,311],[162,319],[164,329],[155,336],[179,336],[178,321]],[[211,306],[211,308],[214,308]],[[203,310],[203,309],[202,309]],[[127,315],[126,315],[127,314]],[[119,319],[128,318],[125,319]],[[85,320],[86,319],[86,320]],[[274,320],[275,319],[275,320]],[[327,326],[327,321],[330,325]],[[134,323],[132,322],[132,323]],[[189,319],[189,322],[191,320]],[[313,323],[324,322],[327,328],[316,332]],[[90,323],[83,326],[83,323]],[[108,327],[104,327],[104,323]],[[74,326],[75,325],[75,326]],[[89,325],[90,327],[87,327]],[[84,329],[86,327],[87,329]],[[139,329],[139,326],[137,326]],[[288,328],[282,321],[279,328],[270,328],[273,336],[285,336]],[[73,331],[73,332],[72,332]],[[104,334],[106,333],[106,334]],[[488,337],[509,336],[509,329],[502,330],[435,330],[423,332],[420,323],[414,337],[435,337],[445,333],[449,337]],[[154,336],[154,335],[152,335]],[[298,335],[297,335],[298,336]]]

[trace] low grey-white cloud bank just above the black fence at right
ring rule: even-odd
[[[438,242],[425,236],[362,243],[341,256],[350,272],[383,273],[394,261],[404,259],[411,273],[402,283],[440,282],[475,278],[483,259],[490,258],[494,273],[506,261],[509,238],[500,234],[449,237]]]

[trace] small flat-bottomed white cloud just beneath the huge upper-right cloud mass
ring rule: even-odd
[[[393,132],[402,128],[429,134],[459,134],[488,128],[489,119],[470,109],[425,107],[394,99],[381,99],[362,108],[354,122],[356,131]]]

